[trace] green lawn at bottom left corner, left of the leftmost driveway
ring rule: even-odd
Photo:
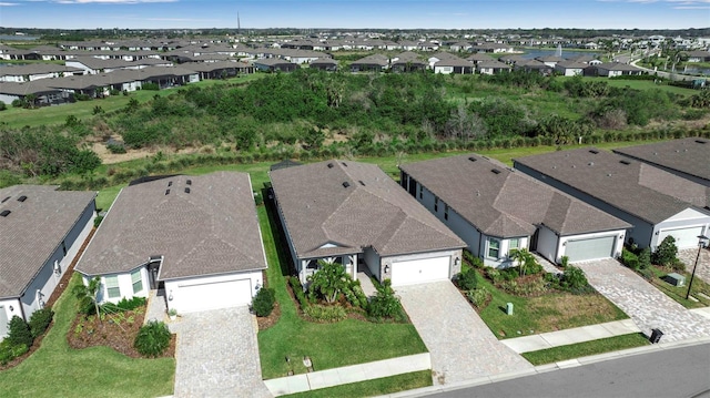
[[[77,284],[74,275],[71,284]],[[133,359],[108,347],[72,349],[67,334],[77,314],[71,286],[54,305],[54,325],[41,347],[0,371],[2,397],[159,397],[173,391],[173,358]]]

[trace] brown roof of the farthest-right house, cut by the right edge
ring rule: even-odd
[[[710,140],[688,137],[613,150],[694,183],[710,186]]]

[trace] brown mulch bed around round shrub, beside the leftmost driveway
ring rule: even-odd
[[[143,358],[133,347],[133,341],[143,326],[144,317],[145,307],[105,315],[103,320],[98,316],[79,314],[69,329],[67,341],[75,349],[104,346],[131,358]],[[174,357],[175,341],[175,335],[172,335],[170,346],[160,357]]]

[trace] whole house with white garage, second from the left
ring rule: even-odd
[[[231,172],[124,187],[77,265],[102,303],[158,290],[179,313],[247,305],[265,268],[250,176]]]

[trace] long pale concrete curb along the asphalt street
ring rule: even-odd
[[[549,371],[601,363],[610,359],[631,357],[636,355],[648,354],[652,351],[660,351],[665,349],[672,349],[678,347],[697,346],[697,345],[707,344],[707,343],[710,343],[710,337],[697,337],[697,338],[690,338],[687,340],[659,343],[659,344],[652,344],[643,347],[623,349],[620,351],[605,353],[605,354],[598,354],[598,355],[592,355],[588,357],[580,357],[576,359],[564,360],[564,361],[554,363],[554,364],[540,365],[529,370],[518,370],[518,371],[510,371],[510,373],[505,373],[505,374],[499,374],[494,376],[484,376],[484,377],[478,377],[478,378],[466,380],[466,381],[453,382],[450,385],[423,387],[423,388],[417,388],[417,389],[407,390],[407,391],[388,394],[379,397],[382,398],[424,397],[435,392],[456,391],[464,388],[483,386],[483,385],[494,384],[498,381],[506,381],[506,380],[517,379],[526,376],[535,376],[535,375],[546,374]]]

